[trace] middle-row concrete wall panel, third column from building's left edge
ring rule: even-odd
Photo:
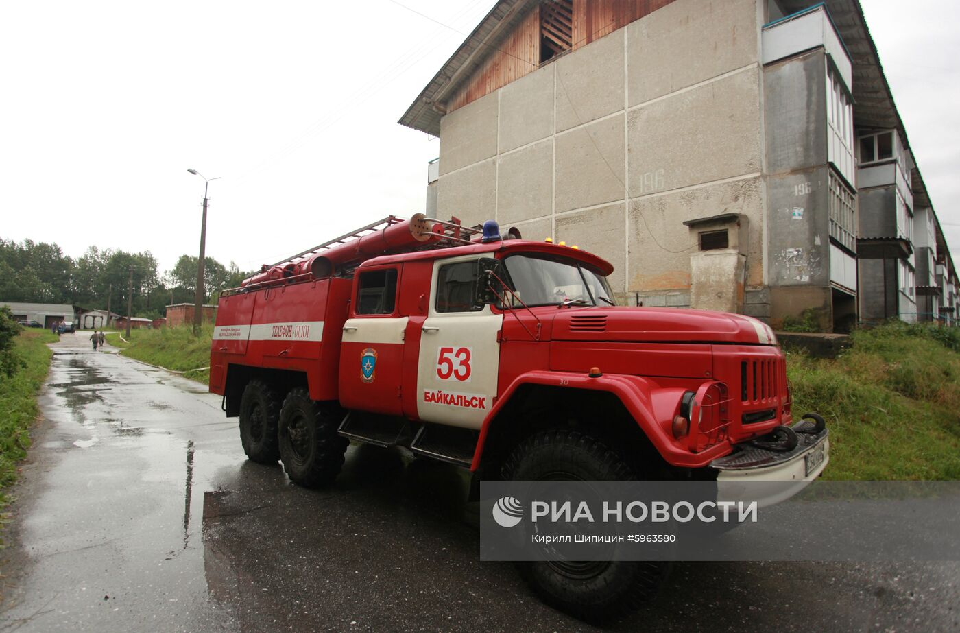
[[[557,212],[622,200],[623,115],[558,135],[556,160]]]

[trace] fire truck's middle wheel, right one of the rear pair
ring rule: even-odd
[[[280,460],[287,476],[301,486],[333,481],[344,465],[347,438],[337,434],[338,410],[310,400],[306,389],[293,389],[280,409]]]

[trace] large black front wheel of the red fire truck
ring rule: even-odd
[[[575,431],[542,431],[507,459],[504,479],[603,481],[635,479],[616,451]],[[520,573],[547,604],[588,621],[607,621],[636,610],[666,579],[669,563],[639,561],[529,561]]]

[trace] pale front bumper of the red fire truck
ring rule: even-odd
[[[816,420],[822,421],[819,416]],[[765,506],[803,490],[824,472],[830,460],[829,430],[826,426],[818,430],[817,424],[804,420],[792,427],[798,439],[792,450],[763,449],[745,443],[739,450],[711,461],[710,467],[719,471],[719,498],[749,496]]]

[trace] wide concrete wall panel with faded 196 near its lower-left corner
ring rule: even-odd
[[[758,172],[758,83],[752,68],[631,110],[631,197]]]

